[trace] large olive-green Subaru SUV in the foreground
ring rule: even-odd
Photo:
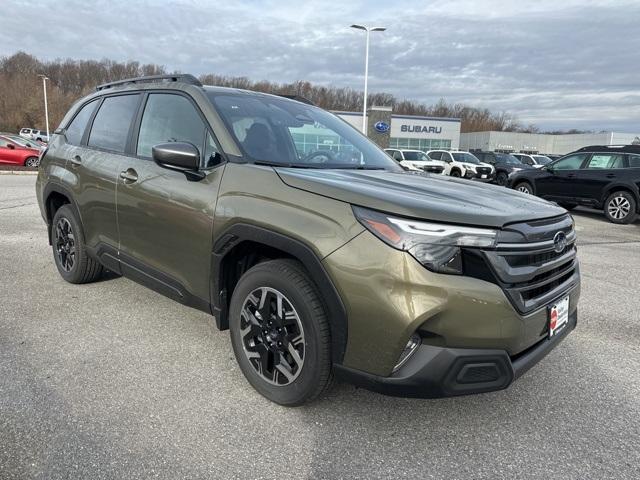
[[[577,322],[563,208],[405,172],[300,98],[190,75],[101,85],[36,188],[65,280],[107,269],[214,315],[283,405],[333,377],[423,398],[503,389]]]

